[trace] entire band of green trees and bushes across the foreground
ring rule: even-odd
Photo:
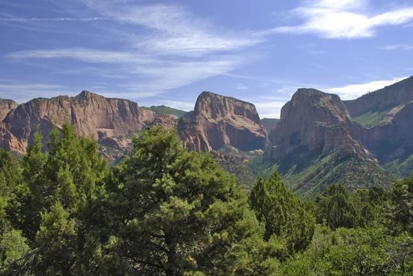
[[[248,195],[175,130],[139,135],[114,167],[67,124],[0,151],[0,275],[412,275],[413,176],[303,202],[271,171]]]

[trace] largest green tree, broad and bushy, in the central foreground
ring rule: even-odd
[[[277,260],[246,193],[208,153],[183,149],[176,131],[149,128],[108,181],[112,273],[260,275]]]

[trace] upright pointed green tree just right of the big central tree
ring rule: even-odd
[[[251,208],[265,225],[265,240],[276,235],[287,240],[290,252],[305,249],[314,233],[314,218],[304,204],[282,183],[277,171],[257,179],[249,195]]]

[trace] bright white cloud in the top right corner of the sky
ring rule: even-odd
[[[375,11],[368,0],[311,0],[291,12],[301,25],[275,28],[266,33],[313,33],[326,39],[356,39],[375,35],[377,28],[401,25],[413,19],[413,7]]]

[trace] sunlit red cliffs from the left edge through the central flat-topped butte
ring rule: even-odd
[[[103,149],[117,151],[129,149],[127,137],[149,125],[178,127],[184,146],[198,151],[224,145],[249,151],[263,149],[268,143],[254,105],[210,92],[200,94],[195,110],[186,114],[179,126],[178,117],[172,114],[87,91],[74,97],[35,98],[21,105],[8,100],[0,104],[0,147],[19,153],[25,152],[38,126],[46,140],[53,127],[60,128],[65,122],[72,123],[79,136],[95,137]]]

